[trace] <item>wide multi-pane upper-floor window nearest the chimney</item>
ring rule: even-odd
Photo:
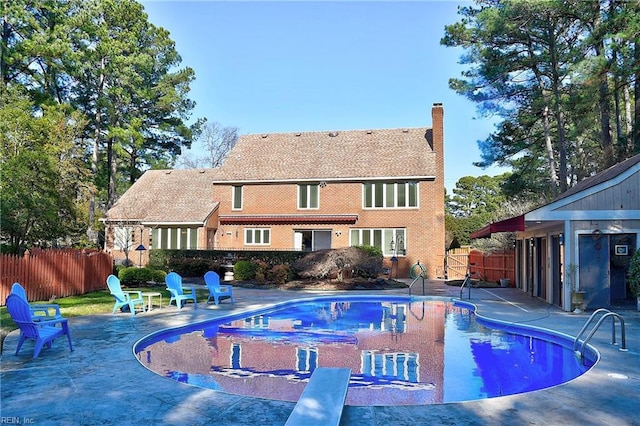
[[[365,183],[363,198],[366,209],[418,207],[418,184]]]

